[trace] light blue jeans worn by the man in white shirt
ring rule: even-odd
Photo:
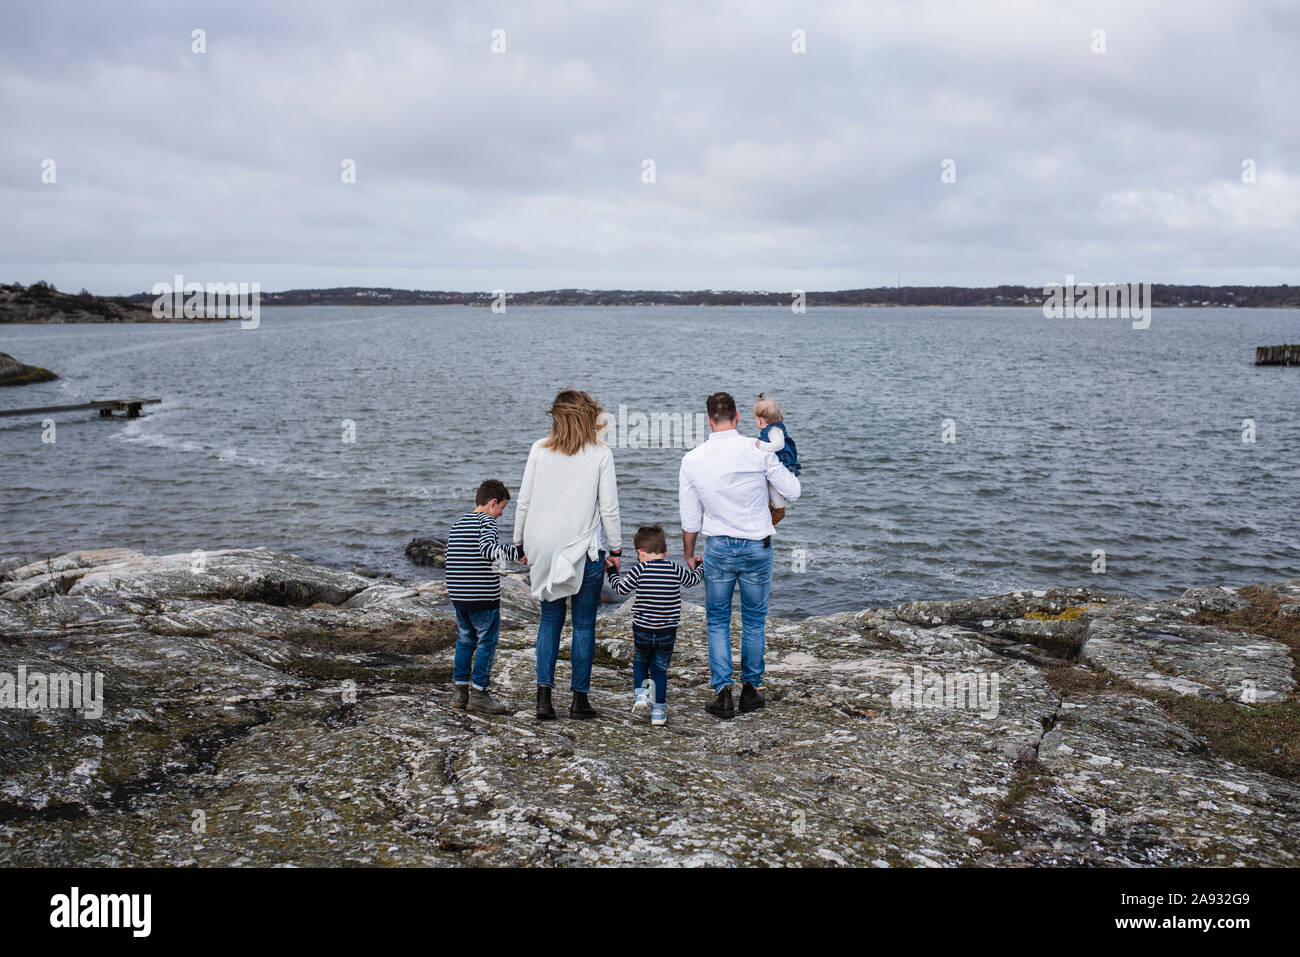
[[[708,670],[712,688],[732,684],[731,609],[740,585],[740,679],[763,681],[767,650],[767,598],[772,592],[772,549],[762,541],[715,536],[705,546],[705,611],[708,615]]]

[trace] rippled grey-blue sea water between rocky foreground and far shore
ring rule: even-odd
[[[0,390],[3,407],[164,399],[135,421],[60,413],[52,445],[39,417],[0,419],[0,555],[266,545],[422,577],[406,542],[445,534],[482,478],[517,490],[573,385],[645,413],[718,389],[780,399],[805,494],[779,528],[775,614],[1269,581],[1300,575],[1300,369],[1252,361],[1297,341],[1300,312],[1253,309],[1161,309],[1145,330],[1035,308],[689,307],[0,326],[0,351],[62,377]],[[615,449],[628,538],[679,532],[681,454]]]

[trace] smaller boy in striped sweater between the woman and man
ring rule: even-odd
[[[668,663],[681,623],[681,589],[698,585],[705,572],[668,560],[668,540],[662,525],[642,525],[633,540],[638,564],[627,575],[608,568],[610,586],[619,594],[637,593],[632,606],[632,714],[650,715],[654,726],[668,723]],[[654,702],[650,684],[654,681]]]

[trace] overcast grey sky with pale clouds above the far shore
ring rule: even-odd
[[[8,4],[0,281],[1296,283],[1297,51],[1295,0]]]

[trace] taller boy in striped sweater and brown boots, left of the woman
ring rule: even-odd
[[[517,545],[497,540],[497,519],[508,502],[506,485],[489,478],[478,486],[474,510],[462,515],[447,536],[447,594],[456,610],[451,706],[484,714],[510,710],[488,693],[500,636],[500,576],[493,563],[502,558],[528,562]]]

